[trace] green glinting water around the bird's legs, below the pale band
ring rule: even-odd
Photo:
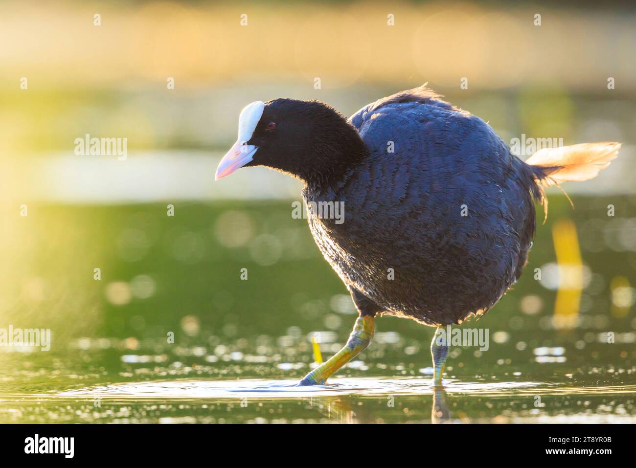
[[[550,198],[522,280],[466,324],[488,350],[453,347],[444,390],[432,329],[392,317],[329,385],[294,387],[309,338],[326,358],[356,317],[306,221],[291,202],[166,204],[29,205],[2,226],[0,328],[50,328],[52,344],[0,347],[0,422],[636,422],[633,197]],[[578,293],[558,289],[564,219]]]

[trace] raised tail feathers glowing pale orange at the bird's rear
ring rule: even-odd
[[[618,156],[620,143],[581,143],[561,148],[539,149],[526,160],[537,182],[533,195],[543,203],[548,216],[548,200],[543,188],[559,186],[561,182],[587,181],[597,176],[598,171],[609,166]]]

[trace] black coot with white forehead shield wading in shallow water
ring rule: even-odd
[[[421,86],[349,119],[315,100],[252,102],[216,179],[266,166],[304,183],[314,240],[360,315],[347,345],[300,383],[316,385],[370,343],[376,315],[444,327],[487,312],[521,276],[543,188],[595,177],[619,148],[541,149],[523,162],[483,120]],[[343,219],[315,210],[334,203]],[[431,343],[436,385],[441,335]]]

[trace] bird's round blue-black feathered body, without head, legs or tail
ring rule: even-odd
[[[485,312],[521,274],[535,228],[532,173],[487,123],[416,88],[349,119],[369,149],[342,180],[305,189],[344,202],[310,216],[345,283],[426,324]]]

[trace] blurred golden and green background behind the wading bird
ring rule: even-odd
[[[525,275],[471,325],[490,329],[490,350],[453,350],[449,376],[552,379],[559,389],[572,379],[633,384],[636,11],[569,5],[1,3],[0,328],[48,327],[53,344],[50,352],[0,347],[0,395],[304,375],[314,360],[309,337],[321,331],[322,352],[333,353],[350,333],[353,305],[307,222],[291,217],[298,182],[262,168],[214,182],[216,165],[254,100],[318,99],[349,116],[425,82],[509,144],[522,135],[623,142],[597,179],[564,187],[575,209],[550,191]],[[127,157],[75,155],[86,134],[126,138]],[[377,326],[375,343],[343,375],[427,373],[432,329],[392,318]],[[455,404],[466,418],[489,420],[590,408],[619,418],[633,415],[631,391],[608,400],[590,390],[586,409],[571,411],[511,409],[510,396],[499,406]],[[122,416],[124,406],[15,402],[0,397],[0,421],[274,417],[172,406],[148,415],[134,405]],[[272,408],[286,421],[326,417]],[[368,419],[421,416],[406,410]]]

